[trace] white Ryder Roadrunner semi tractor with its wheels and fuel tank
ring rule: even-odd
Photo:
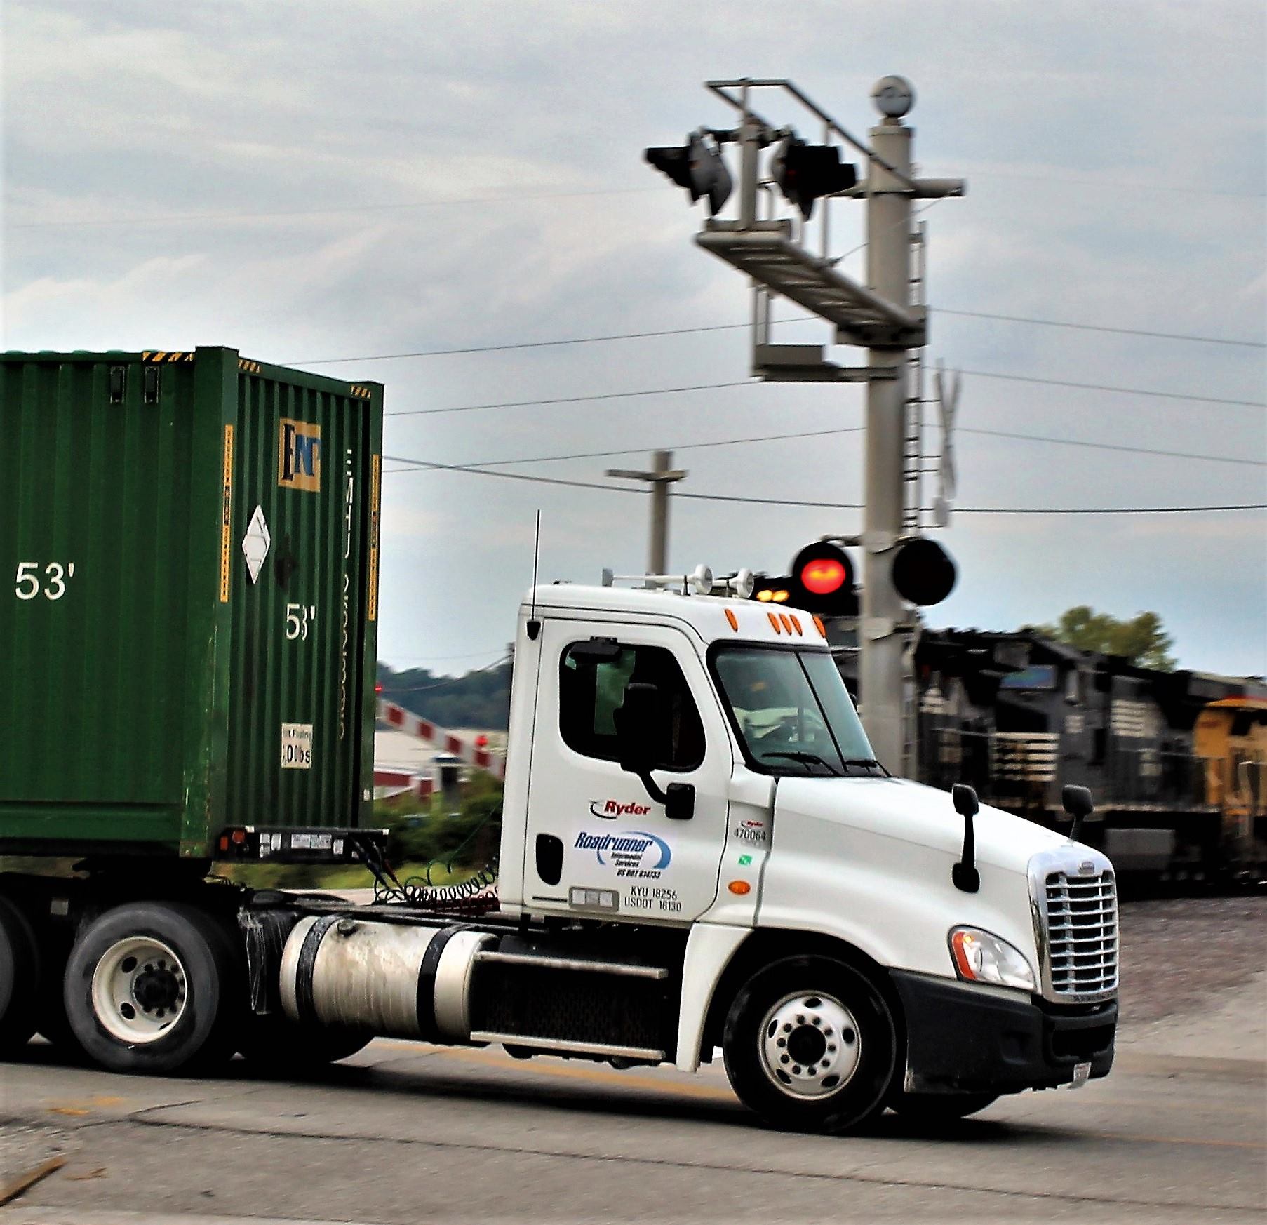
[[[1106,1076],[1109,860],[892,777],[821,623],[713,589],[525,599],[492,913],[10,883],[77,916],[68,1036],[153,1072],[372,1036],[684,1072],[720,1048],[768,1124],[829,1133]]]

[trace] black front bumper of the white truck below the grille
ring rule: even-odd
[[[1016,1093],[1068,1084],[1079,1063],[1112,1067],[1117,1005],[1009,1000],[926,974],[892,972],[906,1013],[910,1093]]]

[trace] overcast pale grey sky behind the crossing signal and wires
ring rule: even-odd
[[[858,432],[698,445],[855,429],[860,386],[430,412],[744,383],[740,327],[379,355],[742,323],[744,279],[694,246],[702,208],[642,148],[731,122],[710,77],[791,77],[863,134],[872,82],[900,72],[917,91],[921,171],[968,180],[925,218],[934,308],[1254,342],[934,309],[929,361],[981,372],[963,378],[958,504],[1267,502],[1261,407],[986,376],[1263,402],[1258,0],[6,0],[3,20],[6,348],[228,345],[383,381],[399,414],[389,456],[628,448],[500,469],[606,483],[606,467],[673,447],[684,493],[856,503]],[[773,96],[763,109],[797,119]],[[862,223],[862,204],[832,204],[836,253],[863,242]],[[816,322],[777,338],[829,341]],[[343,357],[359,360],[322,364]],[[393,664],[462,671],[503,654],[538,508],[544,579],[644,568],[644,495],[386,467],[380,654]],[[849,509],[677,499],[670,564],[783,573],[802,543],[859,527]],[[1185,666],[1267,671],[1262,511],[958,513],[943,540],[960,578],[934,626],[1154,609]]]

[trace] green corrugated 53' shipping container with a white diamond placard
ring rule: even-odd
[[[369,823],[383,389],[0,355],[0,854]]]

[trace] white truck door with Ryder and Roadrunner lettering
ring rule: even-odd
[[[597,649],[595,649],[597,644]],[[689,922],[712,906],[726,845],[730,737],[703,663],[664,626],[546,621],[532,737],[523,904],[538,912]],[[616,712],[654,684],[660,788],[694,789],[670,820],[622,770]]]

